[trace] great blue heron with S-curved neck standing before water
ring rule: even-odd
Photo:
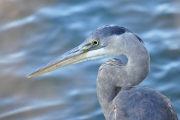
[[[40,67],[37,76],[69,64],[124,54],[128,62],[110,59],[99,68],[97,95],[107,120],[177,120],[167,97],[151,88],[133,87],[149,73],[150,58],[143,41],[115,25],[96,29],[78,47]]]

